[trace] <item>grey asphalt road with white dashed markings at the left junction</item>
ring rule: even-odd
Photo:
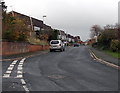
[[[3,91],[118,90],[118,70],[93,60],[86,46],[17,60],[10,76],[5,76],[14,63],[3,62]]]

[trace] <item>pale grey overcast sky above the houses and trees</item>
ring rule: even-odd
[[[43,20],[52,28],[80,35],[82,40],[90,37],[94,24],[104,26],[118,22],[120,0],[4,0],[8,11]],[[10,7],[12,6],[12,7]]]

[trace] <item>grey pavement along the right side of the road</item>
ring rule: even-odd
[[[98,49],[92,48],[89,46],[89,49],[100,59],[105,60],[109,63],[118,65],[119,59],[112,57],[111,55],[106,54],[103,51],[100,51]]]

